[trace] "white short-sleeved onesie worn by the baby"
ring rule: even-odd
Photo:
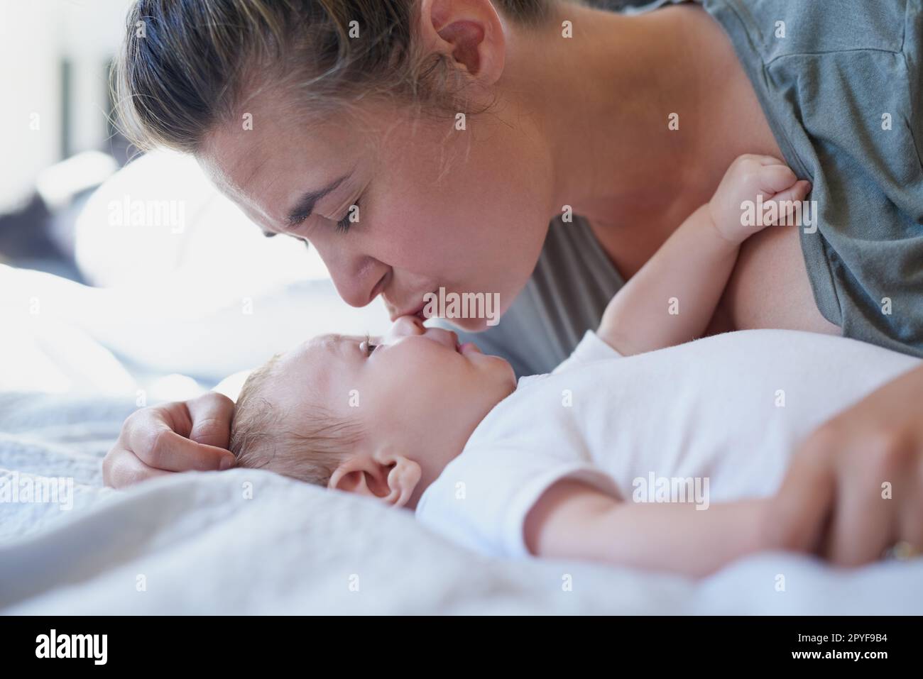
[[[522,377],[487,413],[416,517],[477,551],[527,556],[526,515],[564,478],[629,502],[677,501],[657,494],[668,486],[705,506],[773,494],[814,428],[919,363],[792,330],[623,358],[587,332],[553,373]]]

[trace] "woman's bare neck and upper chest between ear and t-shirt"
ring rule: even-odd
[[[662,224],[651,227],[663,232],[659,245],[711,197],[737,155],[778,152],[730,42],[700,7],[626,17],[564,5],[559,13],[557,26],[571,20],[573,38],[545,37],[517,65],[533,82],[529,103],[541,112],[556,205],[596,226]]]

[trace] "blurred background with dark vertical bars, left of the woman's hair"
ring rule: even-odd
[[[0,2],[0,261],[80,279],[67,222],[126,163],[107,85],[126,7]]]

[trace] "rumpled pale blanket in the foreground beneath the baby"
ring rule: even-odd
[[[923,560],[841,570],[759,554],[695,582],[485,558],[410,512],[269,472],[103,488],[100,459],[134,408],[0,394],[0,474],[74,480],[69,510],[0,504],[3,613],[923,612]]]

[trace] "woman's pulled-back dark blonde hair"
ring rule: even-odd
[[[493,0],[524,27],[562,0]],[[573,0],[568,0],[573,2]],[[413,40],[419,0],[138,0],[113,66],[123,134],[139,149],[196,152],[210,130],[241,119],[242,99],[282,88],[321,118],[366,97],[418,113],[468,111],[465,78],[446,54]]]

